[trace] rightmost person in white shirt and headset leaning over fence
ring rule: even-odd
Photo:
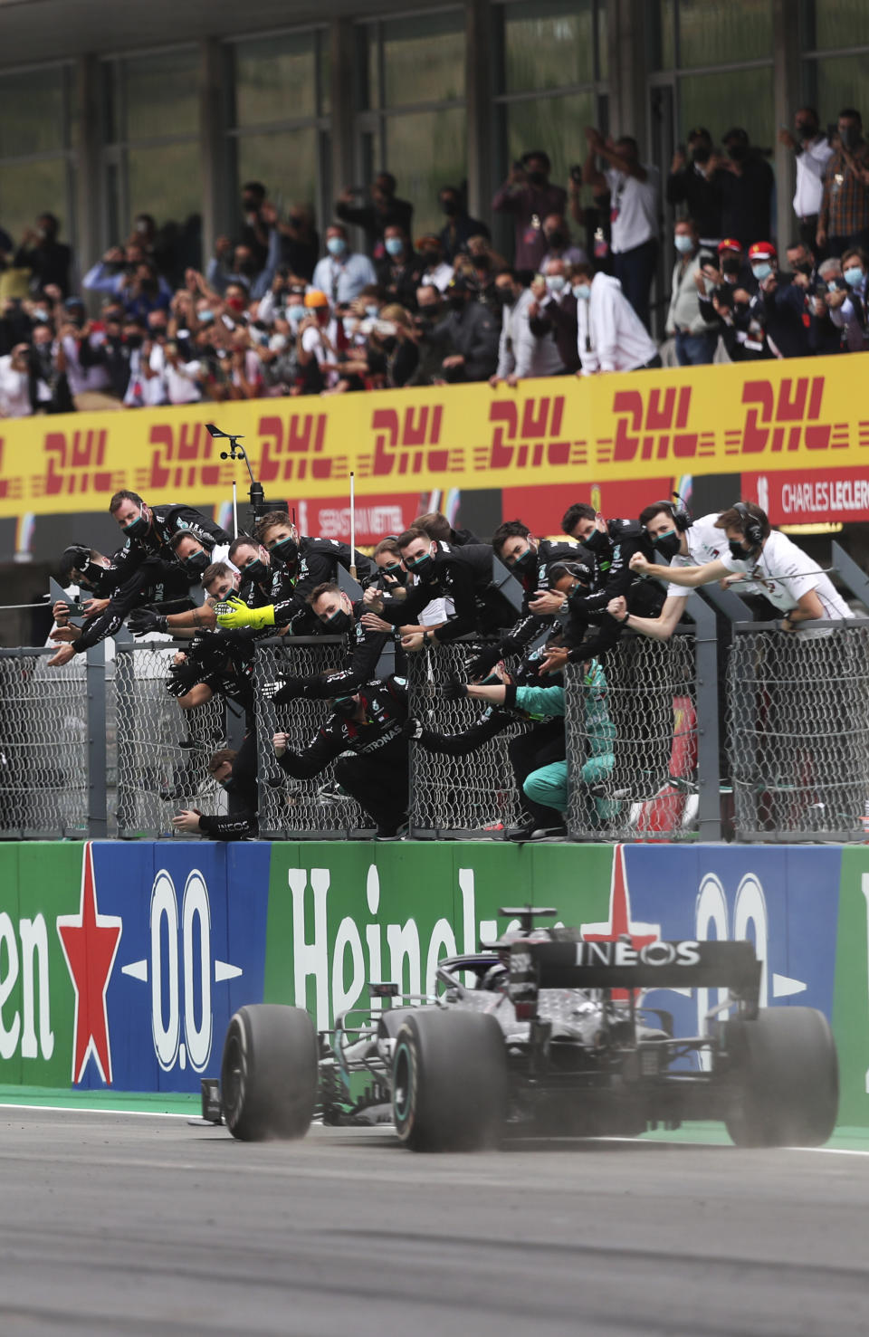
[[[785,616],[782,631],[798,631],[801,622],[825,619],[838,622],[853,614],[832,580],[802,548],[770,527],[766,511],[754,501],[737,501],[722,511],[715,521],[727,540],[727,551],[699,567],[658,566],[638,552],[631,570],[639,575],[670,580],[674,586],[694,590],[727,580],[739,592],[763,595]]]

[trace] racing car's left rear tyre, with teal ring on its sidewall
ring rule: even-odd
[[[409,1013],[396,1038],[392,1104],[396,1132],[413,1151],[496,1146],[507,1052],[495,1017],[437,1007]]]

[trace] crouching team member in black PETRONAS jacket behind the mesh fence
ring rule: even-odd
[[[294,779],[310,779],[334,761],[338,785],[374,820],[377,836],[396,836],[408,814],[408,699],[401,678],[376,678],[340,697],[303,753],[287,734],[274,735],[278,765]],[[350,751],[353,757],[342,757]],[[336,761],[336,758],[338,758]]]

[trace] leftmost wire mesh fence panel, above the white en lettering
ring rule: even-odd
[[[0,833],[86,836],[86,664],[49,668],[52,650],[0,651]]]

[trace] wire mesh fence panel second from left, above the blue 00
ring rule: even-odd
[[[225,705],[213,697],[195,710],[182,710],[166,691],[179,650],[183,643],[116,646],[107,715],[119,836],[174,836],[171,818],[180,809],[221,810],[222,794],[207,765],[226,746]]]

